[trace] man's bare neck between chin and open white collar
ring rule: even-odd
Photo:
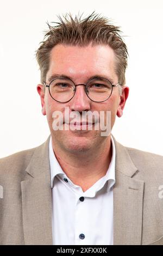
[[[55,146],[54,146],[55,145]],[[111,139],[86,153],[68,153],[53,143],[55,156],[67,177],[83,191],[89,189],[107,172],[112,156]]]

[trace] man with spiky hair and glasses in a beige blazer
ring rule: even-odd
[[[110,132],[129,94],[119,32],[95,14],[49,26],[36,58],[51,136],[1,159],[1,244],[163,244],[163,157]]]

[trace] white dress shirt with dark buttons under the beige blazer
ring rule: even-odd
[[[112,245],[113,191],[115,184],[115,144],[106,175],[83,192],[68,179],[57,161],[52,138],[49,163],[52,186],[53,245]]]

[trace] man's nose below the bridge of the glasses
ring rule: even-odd
[[[91,109],[91,100],[85,93],[84,84],[78,84],[76,86],[76,93],[71,100],[70,109],[71,111],[78,112],[89,111]]]

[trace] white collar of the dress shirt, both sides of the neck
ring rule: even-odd
[[[112,156],[111,156],[111,162],[109,164],[109,168],[101,179],[99,179],[98,182],[98,190],[99,191],[104,185],[105,182],[108,181],[107,191],[110,190],[110,188],[115,184],[115,159],[116,159],[116,150],[115,150],[115,143],[114,139],[111,136],[111,144],[112,144]],[[51,169],[51,187],[53,188],[53,181],[55,176],[58,174],[61,176],[65,176],[67,178],[66,174],[62,170],[57,158],[55,157],[53,147],[52,147],[52,137],[49,140],[49,164]]]

